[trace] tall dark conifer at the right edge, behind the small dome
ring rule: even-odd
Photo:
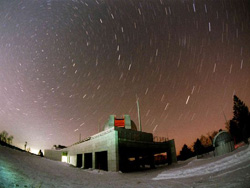
[[[250,113],[248,107],[236,95],[234,95],[233,119],[229,122],[229,132],[235,142],[245,141],[248,143],[250,136]]]

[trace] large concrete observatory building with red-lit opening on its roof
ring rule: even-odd
[[[174,140],[154,142],[153,134],[137,131],[129,115],[109,117],[103,131],[60,150],[61,159],[81,168],[130,171],[154,167],[156,154],[165,153],[168,164],[177,162]],[[45,157],[58,160],[58,150],[45,150]]]

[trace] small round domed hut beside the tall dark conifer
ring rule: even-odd
[[[227,131],[220,131],[213,139],[215,156],[223,155],[234,150],[234,141]]]

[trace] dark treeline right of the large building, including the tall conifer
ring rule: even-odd
[[[226,122],[226,129],[234,139],[234,143],[244,141],[248,143],[250,137],[250,112],[248,107],[236,95],[233,97],[233,118]],[[221,131],[221,129],[219,130]],[[213,139],[219,131],[208,133],[207,136],[202,135],[193,143],[191,147],[183,145],[178,160],[186,160],[194,156],[202,156],[214,150]]]

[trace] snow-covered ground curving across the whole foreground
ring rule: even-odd
[[[83,170],[0,146],[0,188],[250,187],[250,147],[132,173]]]

